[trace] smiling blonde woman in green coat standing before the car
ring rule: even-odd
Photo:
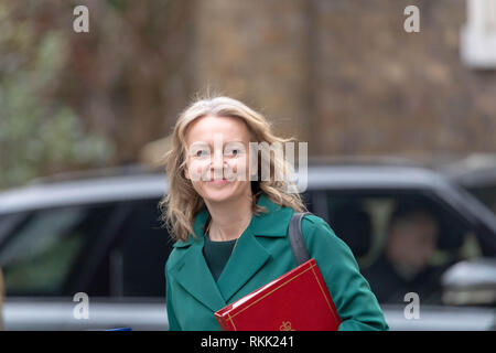
[[[250,142],[287,141],[228,97],[197,100],[180,116],[166,156],[170,191],[161,202],[176,240],[165,265],[170,330],[219,330],[215,311],[295,267],[288,225],[305,207],[291,179],[274,178],[278,168],[289,176],[290,165],[278,153],[250,149]],[[262,178],[265,162],[269,178]],[[349,248],[321,217],[308,215],[301,227],[339,330],[387,330]]]

